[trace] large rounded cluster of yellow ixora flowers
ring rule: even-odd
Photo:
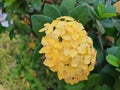
[[[96,50],[92,39],[81,23],[73,18],[63,16],[52,23],[44,24],[40,32],[43,47],[39,53],[45,53],[44,65],[57,72],[59,80],[75,84],[87,80],[96,62]]]

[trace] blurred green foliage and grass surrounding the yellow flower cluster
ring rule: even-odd
[[[116,2],[0,0],[9,22],[8,27],[0,24],[0,45],[8,45],[0,47],[0,85],[8,90],[120,90],[120,14],[113,6]],[[56,73],[42,64],[44,55],[38,53],[45,35],[38,31],[60,16],[81,22],[97,50],[95,69],[87,81],[75,85],[58,80]]]

